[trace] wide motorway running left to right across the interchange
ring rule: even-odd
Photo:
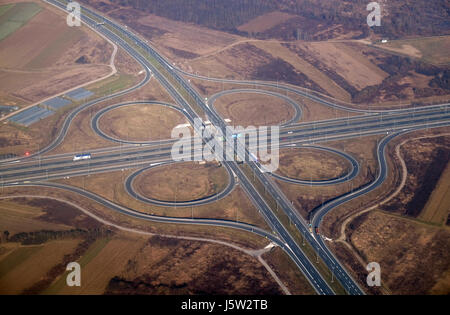
[[[428,114],[428,113],[427,113]],[[422,127],[433,127],[435,124],[440,124],[440,120],[447,118],[450,120],[450,114],[439,115],[433,114],[432,117],[427,116],[427,118],[415,115],[415,117],[410,120],[402,119],[393,122],[371,123],[364,127],[348,126],[346,123],[342,124],[337,121],[339,128],[334,128],[333,125],[328,125],[330,129],[324,128],[307,128],[309,133],[297,134],[293,132],[292,134],[285,133],[285,137],[281,136],[280,145],[281,146],[294,146],[296,144],[308,144],[308,143],[318,143],[326,142],[337,139],[348,139],[355,137],[363,137],[366,135],[373,134],[383,134],[385,130],[403,130],[405,128],[415,128],[418,125]],[[283,134],[282,134],[283,135]],[[262,139],[264,140],[264,139]],[[268,141],[270,143],[270,140]],[[119,152],[117,150],[119,149]],[[105,151],[99,151],[93,155],[92,160],[84,162],[73,162],[73,154],[64,154],[58,156],[46,156],[40,157],[35,156],[33,159],[24,159],[24,162],[14,161],[14,163],[1,163],[0,164],[0,176],[2,180],[6,180],[19,177],[18,180],[29,180],[27,175],[38,175],[39,173],[45,172],[62,172],[60,176],[70,176],[69,174],[64,175],[65,172],[73,172],[80,168],[89,168],[91,171],[95,171],[96,167],[105,167],[107,165],[122,165],[124,168],[136,167],[138,165],[142,166],[145,163],[156,163],[156,162],[168,162],[171,161],[171,149],[172,143],[168,143],[162,146],[132,146],[127,148],[113,148],[105,149]],[[193,152],[194,155],[195,152]],[[73,176],[73,175],[72,175]],[[23,178],[22,178],[23,177]],[[42,177],[37,177],[42,179]],[[12,180],[9,180],[11,182]]]

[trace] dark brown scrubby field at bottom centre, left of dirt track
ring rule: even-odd
[[[281,294],[256,258],[216,244],[152,237],[108,294]]]

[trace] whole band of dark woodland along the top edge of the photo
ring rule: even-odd
[[[111,10],[111,7],[103,1],[84,0],[84,2],[104,11]],[[296,38],[293,32],[299,27],[308,29],[309,24],[316,32],[319,24],[324,28],[341,25],[343,32],[362,31],[357,37],[365,37],[369,32],[389,38],[450,34],[447,0],[385,2],[381,26],[374,28],[369,28],[366,24],[369,13],[366,11],[368,4],[366,0],[111,0],[111,3],[176,21],[241,34],[242,32],[237,30],[238,26],[265,13],[282,11],[304,19],[304,24],[291,25],[287,29],[286,25],[283,26],[286,31],[284,34],[288,34],[292,39]],[[383,10],[389,14],[383,14]],[[285,35],[283,36],[286,37]],[[334,34],[327,33],[322,35],[324,36],[330,38]],[[314,35],[310,34],[308,37],[314,38]]]

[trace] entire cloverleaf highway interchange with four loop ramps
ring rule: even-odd
[[[52,0],[49,0],[47,2],[65,10],[65,4],[63,3]],[[321,142],[328,142],[330,140],[358,138],[367,135],[385,135],[383,140],[378,144],[377,153],[379,171],[377,172],[376,179],[369,185],[345,194],[332,201],[324,203],[323,206],[316,209],[311,217],[311,225],[314,227],[319,227],[323,217],[329,211],[339,205],[342,205],[345,202],[373,191],[373,189],[379,187],[384,182],[388,174],[388,167],[385,159],[385,149],[387,144],[392,139],[400,134],[406,134],[414,130],[450,125],[450,113],[448,111],[450,104],[434,105],[426,108],[405,108],[391,111],[361,110],[348,108],[343,104],[336,104],[329,99],[324,99],[320,95],[309,93],[303,89],[296,89],[294,87],[285,86],[283,84],[274,84],[270,82],[221,80],[183,73],[181,70],[176,69],[166,59],[164,59],[161,54],[154,50],[153,47],[149,46],[147,41],[142,40],[140,37],[133,34],[128,29],[122,27],[121,25],[118,25],[117,23],[101,16],[100,14],[90,9],[83,7],[83,12],[85,12],[85,14],[83,14],[82,16],[83,22],[89,25],[91,28],[95,29],[97,32],[100,32],[101,34],[109,38],[111,41],[115,42],[125,51],[127,51],[135,60],[137,60],[142,65],[145,70],[145,77],[139,84],[130,89],[90,101],[73,110],[65,119],[58,136],[48,147],[34,153],[31,157],[8,160],[0,163],[0,176],[2,186],[42,186],[55,189],[64,189],[78,193],[86,198],[90,198],[93,201],[103,204],[114,211],[118,211],[120,213],[124,213],[143,220],[172,224],[178,223],[225,226],[256,233],[258,235],[267,237],[272,242],[280,246],[297,264],[297,266],[304,273],[317,293],[335,294],[327,281],[325,281],[323,276],[318,272],[317,268],[315,267],[315,263],[310,261],[310,259],[304,254],[302,248],[299,246],[299,244],[297,244],[286,227],[283,226],[279,218],[274,214],[273,210],[267,204],[265,198],[261,196],[258,190],[244,174],[242,168],[237,162],[226,161],[223,163],[225,169],[227,170],[229,181],[226,189],[222,192],[218,192],[217,195],[209,196],[202,200],[178,203],[152,200],[141,196],[134,191],[133,180],[136,176],[149,168],[171,163],[172,160],[170,150],[173,145],[173,140],[161,139],[159,141],[139,142],[124,139],[115,139],[103,133],[98,127],[99,119],[109,110],[132,104],[153,104],[178,110],[186,117],[186,119],[191,123],[192,126],[194,126],[194,119],[200,118],[200,115],[197,112],[197,108],[200,108],[201,111],[203,111],[207,115],[213,126],[225,130],[226,122],[214,110],[214,101],[222,95],[231,93],[260,93],[279,97],[285,100],[295,109],[294,117],[291,120],[284,122],[281,126],[281,147],[313,147],[320,150],[327,150],[346,158],[352,166],[351,171],[340,178],[330,179],[328,181],[322,182],[314,182],[307,180],[289,179],[281,177],[277,174],[267,174],[261,172],[261,167],[258,162],[248,161],[248,163],[246,164],[251,168],[252,172],[255,174],[255,177],[257,177],[258,180],[264,185],[266,191],[271,195],[271,197],[277,201],[280,208],[284,211],[285,215],[289,217],[289,219],[293,222],[293,224],[295,224],[299,232],[303,235],[303,237],[311,244],[320,258],[325,262],[327,267],[332,270],[335,278],[342,284],[347,293],[355,295],[364,294],[364,290],[354,279],[352,279],[350,274],[331,253],[321,236],[315,233],[315,231],[313,233],[310,233],[308,222],[306,222],[306,220],[304,220],[299,215],[297,210],[293,207],[292,203],[274,183],[273,178],[275,177],[300,185],[332,185],[344,181],[350,181],[351,179],[355,178],[355,176],[357,176],[359,172],[359,164],[357,160],[346,152],[326,148],[323,146],[319,146],[318,144]],[[99,22],[104,22],[105,25],[99,26]],[[146,56],[145,54],[147,54],[148,56]],[[255,86],[255,89],[249,89],[246,87],[236,90],[223,91],[222,93],[213,96],[206,102],[206,100],[198,94],[198,92],[188,83],[188,81],[182,75],[186,77],[190,76],[201,78],[204,80],[213,80],[216,82],[227,82],[246,86],[253,85]],[[91,153],[93,154],[92,159],[89,161],[83,161],[81,163],[74,163],[72,161],[71,158],[73,157],[73,154],[49,155],[49,153],[54,148],[62,143],[70,128],[71,122],[78,115],[78,113],[105,100],[113,99],[117,96],[126,95],[132,91],[135,91],[147,84],[152,77],[157,79],[169,92],[169,94],[175,101],[174,104],[154,101],[120,103],[102,109],[101,111],[97,112],[92,118],[91,126],[93,130],[99,136],[107,140],[120,143],[119,147],[115,146],[111,148],[93,150],[91,151]],[[263,90],[264,88],[276,88],[280,91],[289,91],[291,93],[310,98],[323,105],[337,109],[345,109],[350,112],[358,113],[359,115],[348,118],[336,118],[326,121],[307,123],[298,122],[302,115],[301,105],[297,104],[294,100],[292,100],[288,96],[283,95],[282,93]],[[186,92],[186,94],[183,94],[181,92]],[[186,95],[189,96],[190,100],[195,101],[195,109],[192,106],[193,104],[186,100]],[[195,131],[198,134],[201,134],[201,130]],[[223,143],[217,142],[215,144],[217,146],[223,146]],[[194,152],[194,155],[196,154],[199,153]],[[142,202],[157,204],[159,206],[194,206],[214,202],[217,199],[224,198],[226,195],[228,195],[238,182],[239,185],[247,193],[250,200],[259,209],[260,213],[274,233],[272,233],[272,231],[264,231],[249,224],[234,221],[152,216],[137,212],[121,205],[117,205],[84,189],[50,182],[50,180],[52,179],[61,179],[71,176],[83,176],[86,174],[95,174],[100,172],[109,172],[113,170],[123,170],[129,168],[138,169],[135,173],[128,177],[126,179],[126,182],[124,183],[129,194],[133,195],[135,198],[139,199]]]

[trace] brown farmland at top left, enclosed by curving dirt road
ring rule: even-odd
[[[29,105],[111,71],[112,45],[84,26],[67,26],[64,12],[42,1],[2,8],[2,104]],[[77,62],[80,58],[83,63]]]

